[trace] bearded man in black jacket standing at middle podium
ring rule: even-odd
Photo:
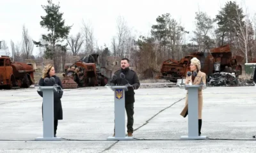
[[[120,77],[120,74],[124,74],[124,78]],[[132,136],[133,133],[133,115],[134,115],[134,89],[140,87],[140,81],[135,71],[129,69],[129,59],[124,58],[121,60],[121,68],[115,71],[115,77],[110,80],[111,85],[127,85],[130,84],[132,87],[127,87],[128,91],[125,91],[125,110],[127,114],[127,133],[128,136]],[[115,129],[114,129],[115,132]],[[115,133],[114,135],[115,136]]]

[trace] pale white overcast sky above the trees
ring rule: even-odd
[[[195,29],[195,12],[206,11],[215,17],[226,0],[53,0],[60,2],[60,11],[66,25],[72,25],[70,34],[80,31],[82,20],[90,22],[99,46],[106,43],[111,48],[111,38],[116,35],[116,18],[121,15],[132,27],[134,33],[147,35],[152,24],[156,24],[158,15],[170,13],[173,18],[180,21],[191,38]],[[250,16],[256,12],[255,0],[237,0],[237,4],[248,7]],[[41,4],[47,0],[0,0],[0,40],[5,40],[10,48],[10,40],[17,43],[21,40],[22,25],[28,28],[33,40],[40,40],[45,29],[40,27],[40,16],[45,12]],[[243,6],[244,8],[244,6]],[[38,52],[35,47],[34,55]]]

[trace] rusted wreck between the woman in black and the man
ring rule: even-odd
[[[111,78],[111,70],[99,65],[99,54],[84,57],[74,64],[65,64],[64,89],[104,86]]]

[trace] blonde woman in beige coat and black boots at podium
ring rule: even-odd
[[[188,84],[199,85],[201,84],[201,82],[205,84],[206,82],[205,73],[200,71],[200,68],[201,68],[200,61],[196,57],[193,57],[193,59],[191,59],[191,64],[190,64],[190,71],[192,75],[189,77],[188,76],[186,77],[186,81],[185,81],[186,85]],[[196,76],[194,76],[193,74],[196,74]],[[198,135],[199,136],[201,135],[201,128],[202,128],[202,108],[203,108],[202,94],[203,94],[202,89],[198,89]],[[186,94],[186,107],[188,108],[188,93]]]

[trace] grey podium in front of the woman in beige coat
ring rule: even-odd
[[[188,136],[181,136],[181,140],[206,139],[198,136],[198,89],[203,85],[184,85],[188,90]]]

